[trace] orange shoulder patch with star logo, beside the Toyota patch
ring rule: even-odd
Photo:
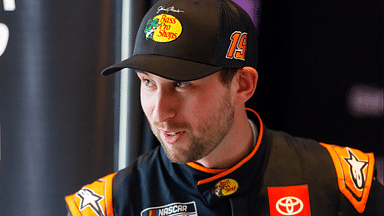
[[[340,191],[359,213],[363,213],[372,185],[375,158],[373,153],[321,143],[335,165]]]

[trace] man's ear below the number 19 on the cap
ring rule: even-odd
[[[259,75],[252,67],[244,67],[237,71],[232,82],[232,90],[235,95],[235,103],[245,103],[255,93]]]

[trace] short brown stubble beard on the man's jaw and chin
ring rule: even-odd
[[[229,93],[227,93],[222,100],[219,110],[214,112],[200,125],[191,128],[187,123],[168,123],[168,126],[171,128],[183,128],[187,132],[186,135],[190,137],[190,143],[187,144],[186,149],[178,148],[177,145],[167,145],[161,139],[160,132],[155,130],[152,125],[151,128],[169,160],[173,163],[184,164],[200,160],[209,155],[232,128],[234,116],[234,106],[230,102]]]

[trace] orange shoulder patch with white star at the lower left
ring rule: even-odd
[[[113,216],[112,180],[110,174],[66,196],[68,209],[73,216]]]

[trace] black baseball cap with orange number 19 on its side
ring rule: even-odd
[[[132,68],[191,81],[222,68],[256,68],[257,43],[258,28],[231,0],[160,0],[140,24],[133,55],[101,74]]]

